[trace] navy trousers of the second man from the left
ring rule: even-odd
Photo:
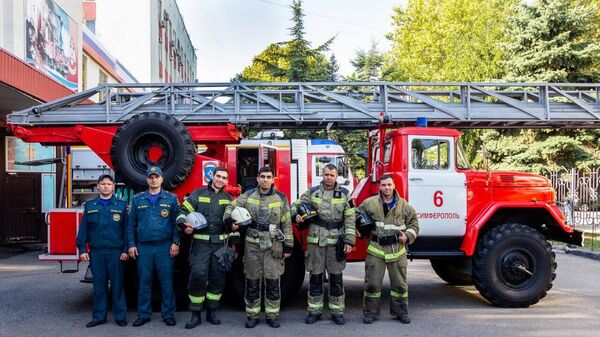
[[[173,259],[169,255],[170,241],[157,243],[139,243],[138,267],[138,318],[150,319],[152,316],[152,278],[158,274],[161,290],[160,316],[162,319],[175,316],[175,292],[173,291]]]

